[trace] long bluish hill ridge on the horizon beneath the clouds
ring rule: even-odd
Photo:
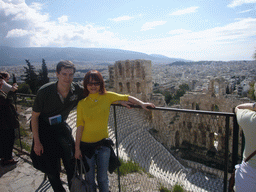
[[[152,63],[172,63],[175,61],[185,61],[184,59],[169,58],[163,55],[148,55],[141,52],[126,51],[121,49],[107,48],[53,48],[53,47],[27,47],[14,48],[0,46],[0,66],[24,65],[25,59],[32,64],[46,62],[58,62],[60,60],[71,60],[76,62],[146,59]]]

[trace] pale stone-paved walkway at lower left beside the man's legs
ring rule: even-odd
[[[15,156],[15,159],[19,160],[16,165],[0,165],[0,192],[53,192],[49,181],[43,182],[44,173],[32,166],[28,156]],[[68,191],[66,176],[62,174],[61,178]]]

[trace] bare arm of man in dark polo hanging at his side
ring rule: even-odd
[[[39,139],[39,132],[38,132],[39,115],[40,115],[40,112],[35,112],[35,111],[32,112],[31,128],[32,128],[32,133],[34,138],[34,151],[36,155],[41,156],[44,153],[44,148]]]

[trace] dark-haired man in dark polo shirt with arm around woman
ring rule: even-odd
[[[60,158],[69,187],[74,171],[74,140],[65,122],[83,95],[83,88],[72,82],[74,73],[75,66],[71,61],[60,61],[56,68],[58,81],[38,90],[32,111],[33,150],[43,158],[41,170],[47,174],[56,192],[65,191],[60,180]]]

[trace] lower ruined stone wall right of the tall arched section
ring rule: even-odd
[[[188,92],[180,98],[181,109],[230,112],[241,103],[251,102],[248,98],[226,94],[226,82],[216,78],[210,81],[208,92]],[[198,115],[192,113],[157,112],[154,117],[156,137],[168,148],[192,145],[198,153],[206,156],[213,152],[221,159],[225,149],[224,116]],[[229,121],[229,151],[232,152],[233,118]],[[240,129],[240,135],[242,130]],[[239,155],[241,152],[241,137],[239,140]],[[200,150],[202,150],[200,152]],[[203,152],[204,151],[204,152]]]

